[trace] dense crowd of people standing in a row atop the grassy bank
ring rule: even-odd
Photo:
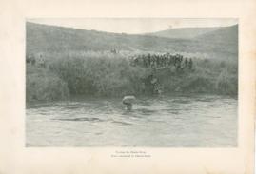
[[[133,58],[132,64],[134,66],[141,66],[144,68],[172,68],[174,67],[177,70],[180,69],[192,69],[193,61],[183,57],[180,54],[171,55],[169,53],[157,55],[157,54],[148,54],[148,55],[139,55]]]

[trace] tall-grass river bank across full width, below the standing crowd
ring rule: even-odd
[[[155,87],[161,88],[162,94],[237,95],[237,83],[237,63],[231,61],[193,59],[192,68],[179,68],[171,63],[168,68],[156,70],[136,65],[134,56],[122,54],[51,54],[45,68],[27,65],[26,97],[31,102],[63,100],[75,95],[153,95]]]

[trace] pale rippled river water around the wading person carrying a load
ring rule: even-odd
[[[26,109],[27,146],[237,146],[237,99],[217,95],[77,99]]]

